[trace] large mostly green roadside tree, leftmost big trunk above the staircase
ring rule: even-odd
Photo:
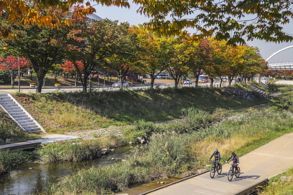
[[[43,10],[43,14],[54,12],[60,19],[67,18],[69,13],[62,13],[53,8]],[[5,17],[4,17],[5,16]],[[6,43],[17,53],[31,61],[34,72],[37,76],[37,92],[41,92],[45,75],[52,68],[53,64],[60,62],[64,54],[64,37],[67,31],[63,28],[51,30],[47,26],[9,24],[8,13],[2,13],[0,20],[10,27],[18,39],[7,40]],[[9,48],[8,48],[9,49]]]

